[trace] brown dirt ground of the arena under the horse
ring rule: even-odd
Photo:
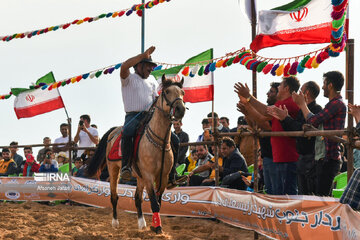
[[[36,202],[0,203],[0,239],[254,239],[251,231],[217,221],[162,216],[164,233],[137,229],[136,214],[119,211],[120,227],[111,226],[111,209]],[[260,236],[259,239],[266,239]]]

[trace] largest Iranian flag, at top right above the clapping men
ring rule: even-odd
[[[295,0],[258,15],[258,33],[250,48],[260,49],[282,44],[330,43],[330,0]]]

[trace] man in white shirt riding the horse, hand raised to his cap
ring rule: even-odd
[[[121,65],[120,79],[121,91],[125,108],[125,123],[121,139],[122,169],[121,178],[124,181],[131,179],[131,158],[134,151],[134,138],[137,128],[158,96],[159,84],[154,78],[149,78],[154,67],[157,66],[151,59],[155,47],[148,48],[144,53],[129,58]],[[130,73],[134,67],[135,73]],[[171,133],[174,160],[177,159],[179,138]],[[180,180],[175,171],[176,162],[169,175],[169,186],[176,186]]]

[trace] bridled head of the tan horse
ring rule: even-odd
[[[183,83],[184,78],[181,79],[181,82],[176,82],[166,79],[165,74],[162,76],[162,108],[166,112],[169,111],[171,120],[180,120],[185,115]]]

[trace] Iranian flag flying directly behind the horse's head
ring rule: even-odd
[[[165,74],[167,77],[174,77],[176,81],[180,81],[184,77],[183,90],[185,91],[184,102],[206,102],[214,99],[214,79],[213,74],[198,75],[201,67],[205,67],[207,60],[213,58],[213,49],[202,52],[190,59],[185,64],[164,70],[153,71],[151,74],[158,80]],[[205,61],[205,62],[203,62]],[[203,62],[203,63],[199,63]],[[198,64],[197,64],[198,63]],[[188,76],[184,76],[182,71],[184,67],[189,66]]]

